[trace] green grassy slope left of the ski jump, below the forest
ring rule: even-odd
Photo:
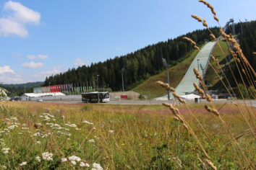
[[[188,53],[181,63],[178,63],[176,66],[172,66],[168,69],[169,73],[169,82],[170,85],[174,88],[178,86],[179,82],[182,81],[184,74],[187,72],[190,64],[194,60],[197,55],[197,50],[192,50],[191,53]],[[161,86],[155,84],[155,81],[163,81],[166,82],[166,71],[162,71],[161,73],[151,76],[149,79],[144,81],[139,86],[133,89],[140,94],[149,95],[150,98],[161,97],[166,94],[166,90]]]

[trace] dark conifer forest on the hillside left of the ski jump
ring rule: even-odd
[[[218,35],[218,28],[211,28],[215,35]],[[171,66],[176,65],[184,59],[184,56],[193,48],[192,45],[183,40],[182,37],[174,40],[158,42],[155,45],[148,45],[124,56],[108,59],[104,62],[92,63],[90,66],[82,66],[77,69],[72,68],[65,73],[46,77],[44,86],[55,84],[93,84],[96,76],[99,75],[99,86],[108,86],[114,91],[121,89],[121,68],[124,68],[124,88],[132,89],[138,81],[147,79],[163,70],[162,58]],[[208,30],[196,30],[190,32],[187,37],[191,37],[198,44],[204,43],[209,38]]]

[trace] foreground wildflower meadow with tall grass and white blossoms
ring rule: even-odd
[[[239,169],[229,133],[201,104],[178,107],[218,169]],[[216,105],[250,163],[255,138],[234,104]],[[244,107],[240,107],[244,109]],[[255,112],[255,110],[250,110]],[[204,155],[162,105],[0,102],[1,169],[205,169]],[[242,155],[237,152],[242,159]],[[244,163],[242,163],[244,164]]]

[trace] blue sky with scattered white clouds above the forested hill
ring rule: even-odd
[[[221,25],[255,20],[255,0],[208,2]],[[44,81],[202,29],[191,14],[217,25],[196,0],[0,0],[0,81]]]

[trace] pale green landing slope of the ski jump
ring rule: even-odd
[[[178,86],[176,86],[176,93],[180,96],[184,95],[186,92],[192,92],[195,91],[195,87],[193,86],[193,82],[195,82],[197,85],[199,84],[198,79],[195,77],[195,73],[193,71],[194,68],[197,68],[198,70],[198,63],[202,65],[202,68],[205,70],[205,68],[208,67],[208,61],[210,60],[210,55],[213,51],[214,45],[216,45],[216,42],[208,42],[203,46],[203,48],[200,50],[199,53],[197,53],[197,56],[195,57],[194,61],[192,61],[191,65],[189,66],[189,69],[187,70],[187,73],[183,77],[182,81],[179,83]],[[197,60],[198,63],[197,63]],[[200,75],[202,75],[202,69],[199,66]],[[170,98],[172,98],[171,92],[170,92]],[[163,97],[156,98],[157,100],[167,100],[167,94]]]

